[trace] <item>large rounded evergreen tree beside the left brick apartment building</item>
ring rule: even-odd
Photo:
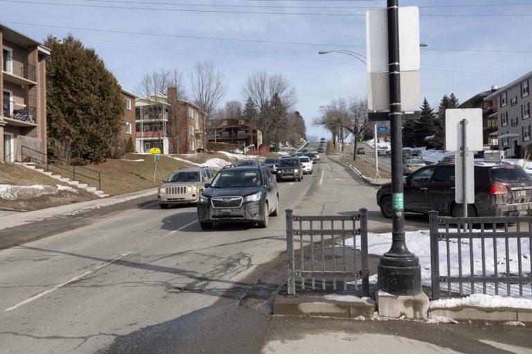
[[[68,35],[48,37],[46,62],[48,148],[69,138],[76,162],[101,162],[113,153],[125,104],[121,87],[93,49]]]

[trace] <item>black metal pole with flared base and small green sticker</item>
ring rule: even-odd
[[[418,295],[421,292],[419,259],[408,250],[405,242],[398,0],[387,0],[387,8],[393,212],[391,248],[380,258],[378,289],[391,295]]]

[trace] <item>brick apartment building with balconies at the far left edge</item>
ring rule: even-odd
[[[51,51],[3,24],[0,48],[0,162],[19,161],[22,153],[46,160],[46,57]]]

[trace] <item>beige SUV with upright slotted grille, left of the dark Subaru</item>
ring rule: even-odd
[[[204,184],[211,182],[214,173],[211,167],[186,167],[172,171],[168,180],[157,190],[159,207],[197,203]]]

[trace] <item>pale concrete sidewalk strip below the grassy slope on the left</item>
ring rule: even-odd
[[[93,201],[86,201],[81,203],[60,205],[58,207],[49,207],[46,209],[35,210],[33,212],[6,212],[0,216],[0,230],[8,227],[15,227],[34,221],[42,221],[46,218],[54,218],[57,216],[79,214],[91,209],[98,209],[100,207],[107,207],[118,203],[132,201],[136,198],[143,198],[146,196],[155,196],[157,188],[144,189],[139,192],[131,192],[120,194],[118,196],[110,196],[102,199],[94,199]]]

